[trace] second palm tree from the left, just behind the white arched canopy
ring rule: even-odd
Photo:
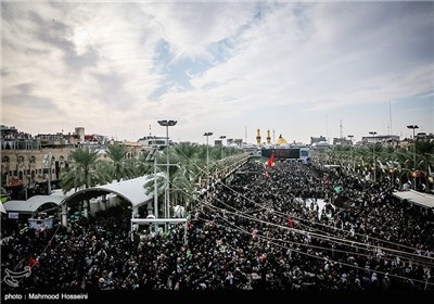
[[[132,161],[127,160],[127,147],[120,144],[107,145],[105,154],[112,161],[108,168],[113,179],[120,181],[120,179],[130,179],[136,177]]]

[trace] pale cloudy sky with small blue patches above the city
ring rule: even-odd
[[[2,1],[1,50],[1,124],[34,136],[434,131],[432,1]]]

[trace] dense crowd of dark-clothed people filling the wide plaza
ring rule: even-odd
[[[296,162],[248,163],[194,200],[187,224],[166,233],[141,226],[131,238],[122,207],[14,233],[1,246],[2,271],[30,266],[31,275],[2,289],[434,290],[433,210],[386,185]]]

